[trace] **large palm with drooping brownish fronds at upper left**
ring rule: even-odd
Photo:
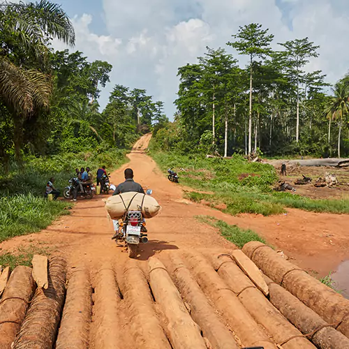
[[[52,78],[45,72],[52,38],[75,43],[73,25],[59,5],[0,3],[0,101],[13,116],[17,159],[24,119],[50,103]]]

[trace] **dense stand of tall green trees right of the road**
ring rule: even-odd
[[[222,156],[343,156],[349,154],[349,77],[331,87],[309,72],[319,47],[309,38],[279,43],[260,24],[240,27],[228,47],[179,68],[174,123],[155,133],[158,147]],[[346,72],[343,72],[343,74]]]

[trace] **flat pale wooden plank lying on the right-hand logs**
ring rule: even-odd
[[[260,269],[258,269],[255,263],[241,250],[232,251],[232,257],[251,281],[253,281],[266,296],[269,295],[269,287],[267,283],[265,283],[262,272],[260,272]]]

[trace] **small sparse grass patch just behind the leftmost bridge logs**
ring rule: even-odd
[[[37,246],[29,246],[27,248],[18,248],[16,253],[2,253],[0,254],[0,265],[2,267],[10,267],[15,269],[18,265],[25,265],[31,267],[31,260],[34,255],[50,255],[49,248],[38,248]]]

